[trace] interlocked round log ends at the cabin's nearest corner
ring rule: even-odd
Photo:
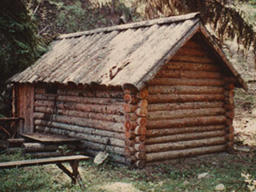
[[[146,114],[148,91],[125,90],[126,164],[145,166]]]

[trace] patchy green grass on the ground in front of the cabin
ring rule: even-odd
[[[0,161],[15,158],[19,158],[19,154],[2,154]],[[226,191],[240,192],[250,191],[246,181],[256,180],[255,165],[255,154],[212,154],[177,159],[143,170],[116,166],[112,162],[104,163],[102,166],[96,166],[93,162],[81,162],[79,170],[86,191],[109,191],[102,190],[101,187],[108,183],[125,182],[147,192],[206,192],[214,191],[215,186],[220,183],[226,186]],[[210,178],[198,179],[197,175],[204,172],[209,173]],[[247,179],[242,173],[248,174]],[[0,170],[0,182],[0,191],[84,191],[78,185],[71,186],[70,178],[53,165]]]

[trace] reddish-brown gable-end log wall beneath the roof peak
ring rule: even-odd
[[[198,42],[188,42],[151,80],[146,164],[233,145],[234,82]]]

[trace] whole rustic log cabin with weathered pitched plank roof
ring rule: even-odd
[[[198,13],[62,34],[9,82],[19,134],[107,145],[139,168],[230,150],[234,86],[247,89]]]

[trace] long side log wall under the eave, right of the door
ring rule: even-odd
[[[57,94],[35,88],[35,130],[82,139],[91,155],[106,151],[125,163],[124,94],[120,89],[59,86]],[[106,145],[107,143],[107,145]]]

